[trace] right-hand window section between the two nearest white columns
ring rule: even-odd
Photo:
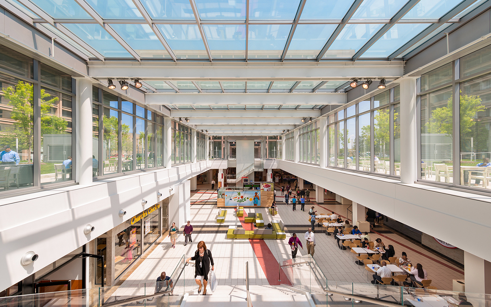
[[[329,115],[327,165],[399,175],[399,96],[396,86]]]

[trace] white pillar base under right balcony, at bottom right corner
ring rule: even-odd
[[[491,262],[464,251],[465,292],[491,293]]]

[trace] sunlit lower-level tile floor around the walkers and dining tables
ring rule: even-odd
[[[200,191],[204,192],[204,191]],[[212,192],[212,191],[209,191]],[[304,232],[309,227],[307,210],[311,204],[305,206],[305,212],[300,210],[292,211],[291,205],[281,204],[282,198],[280,193],[277,195],[278,215],[272,217],[266,209],[256,209],[262,212],[265,225],[273,220],[282,220],[286,225],[303,224],[305,229],[298,233],[302,243]],[[217,224],[216,216],[218,209],[216,204],[207,203],[205,200],[216,197],[216,193],[191,193],[191,224],[199,225],[240,225],[239,220],[235,216],[233,209],[228,209],[224,224]],[[213,198],[215,199],[215,198]],[[314,204],[314,206],[316,206]],[[346,216],[346,207],[340,204],[329,205],[323,204],[329,211],[334,211],[337,214]],[[300,208],[298,206],[297,208]],[[246,208],[245,211],[249,212]],[[318,212],[324,212],[322,208],[317,208]],[[344,210],[344,211],[343,211]],[[316,247],[314,259],[321,268],[322,272],[329,280],[349,281],[349,282],[369,282],[367,279],[366,270],[358,266],[352,259],[352,253],[349,251],[339,250],[333,239],[333,236],[326,236],[323,233],[316,233]],[[409,258],[413,263],[421,263],[428,271],[429,278],[433,280],[433,284],[442,290],[452,290],[452,279],[463,279],[464,276],[453,264],[445,261],[441,257],[421,250],[416,244],[412,243],[405,237],[393,233],[384,233],[384,243],[392,244],[395,248],[396,255],[400,255],[402,251],[407,251],[403,246],[408,246],[416,251],[421,251],[422,254],[407,251]],[[371,236],[378,237],[377,234]],[[218,284],[221,285],[244,285],[245,284],[245,264],[249,263],[249,278],[252,285],[268,285],[268,280],[260,266],[259,261],[255,257],[254,251],[248,240],[228,240],[226,233],[199,233],[193,232],[193,242],[184,246],[184,238],[178,237],[176,248],[172,249],[169,238],[164,238],[162,243],[151,252],[150,255],[135,269],[135,271],[123,282],[118,289],[119,294],[136,294],[141,291],[139,284],[146,281],[155,281],[162,271],[170,274],[176,267],[179,259],[185,255],[190,257],[193,255],[196,244],[203,240],[207,244],[207,248],[212,251],[215,260],[215,271],[217,274]],[[291,250],[288,246],[289,234],[285,240],[265,240],[267,246],[272,251],[276,261],[283,262],[291,259]],[[397,242],[397,243],[396,243]],[[306,248],[298,252],[297,256],[306,254]],[[425,256],[428,254],[431,258],[445,263],[443,266],[437,261]],[[277,270],[277,268],[275,268]],[[185,269],[185,284],[186,287],[196,287],[194,282],[194,268],[191,266]],[[188,291],[190,288],[187,288]]]

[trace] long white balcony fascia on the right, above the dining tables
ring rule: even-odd
[[[348,171],[279,161],[279,168],[336,195],[491,261],[491,197],[400,182]],[[467,198],[475,197],[475,199]],[[469,236],[472,229],[478,236]]]

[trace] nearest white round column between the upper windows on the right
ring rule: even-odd
[[[401,82],[401,183],[416,181],[416,79]]]

